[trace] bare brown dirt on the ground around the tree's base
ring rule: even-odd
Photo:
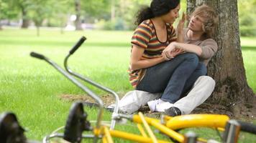
[[[96,103],[94,99],[92,99],[86,94],[62,94],[60,95],[60,99],[63,99],[68,102],[80,101],[93,104]],[[114,104],[115,102],[115,99],[111,94],[102,95],[101,99],[104,102],[104,107],[109,106],[109,104]],[[147,106],[142,107],[139,111],[143,112],[144,114],[147,114],[147,116],[149,117],[160,117],[159,113],[150,113],[150,109]],[[196,109],[194,109],[192,114],[226,114],[232,119],[252,121],[256,119],[256,99],[254,99],[254,104],[234,104],[231,105],[231,107],[224,107],[219,104],[204,103]]]

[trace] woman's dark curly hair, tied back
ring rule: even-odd
[[[152,19],[157,16],[168,14],[168,12],[175,9],[178,4],[180,4],[180,0],[152,0],[150,7],[145,6],[137,13],[135,24],[139,25],[146,19]]]

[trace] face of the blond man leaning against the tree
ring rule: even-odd
[[[198,15],[192,16],[188,24],[188,29],[192,31],[203,31],[203,19]]]

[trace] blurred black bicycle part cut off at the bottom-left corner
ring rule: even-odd
[[[24,129],[19,125],[14,113],[4,112],[0,115],[0,142],[25,143]]]

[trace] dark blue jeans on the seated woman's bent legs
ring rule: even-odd
[[[180,54],[170,61],[148,68],[145,77],[137,84],[137,90],[163,93],[161,97],[163,101],[175,103],[180,99],[186,81],[197,66],[196,54]]]

